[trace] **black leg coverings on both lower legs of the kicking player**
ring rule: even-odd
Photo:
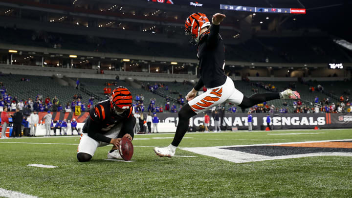
[[[275,99],[280,99],[279,93],[255,93],[249,98],[243,96],[242,103],[238,106],[242,109],[246,109],[262,102]],[[176,133],[174,140],[171,143],[173,146],[179,145],[184,134],[186,134],[187,132],[189,119],[195,115],[197,115],[197,113],[195,113],[188,104],[183,106],[182,109],[178,112],[178,124],[176,128]]]

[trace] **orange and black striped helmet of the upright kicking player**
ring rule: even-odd
[[[210,26],[209,19],[203,13],[193,13],[191,14],[185,22],[185,33],[186,35],[191,35],[190,43],[198,44],[199,42],[199,32],[203,27]]]

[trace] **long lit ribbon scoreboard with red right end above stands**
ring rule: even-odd
[[[243,12],[264,12],[264,13],[286,13],[286,14],[306,14],[304,8],[272,8],[272,7],[250,7],[242,5],[220,4],[221,10],[234,10]]]

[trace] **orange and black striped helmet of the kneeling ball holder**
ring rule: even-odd
[[[110,107],[113,110],[116,108],[120,109],[130,109],[132,106],[132,94],[131,92],[125,87],[117,87],[114,88],[111,92],[110,96]]]

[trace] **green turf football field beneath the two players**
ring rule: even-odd
[[[169,145],[173,136],[135,135],[132,162],[105,160],[111,148],[106,146],[98,148],[92,160],[85,163],[76,158],[79,136],[0,139],[0,197],[6,197],[1,194],[4,190],[45,198],[352,197],[352,130],[187,133],[176,150],[177,156],[156,156],[153,147]],[[339,140],[346,156],[235,163],[182,150],[204,147],[199,149],[204,152],[205,147],[322,140]],[[318,144],[325,147],[326,143]],[[264,151],[263,147],[258,151],[248,148],[250,152]],[[281,151],[286,147],[274,148]],[[331,152],[330,148],[324,151]],[[287,152],[301,150],[289,147]]]

